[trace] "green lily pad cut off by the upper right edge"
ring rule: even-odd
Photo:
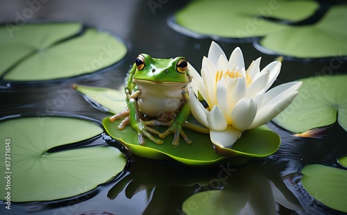
[[[260,45],[275,53],[296,58],[346,56],[347,28],[341,28],[346,19],[347,6],[333,6],[316,24],[269,33],[260,41]]]

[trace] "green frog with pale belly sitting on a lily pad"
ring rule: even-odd
[[[183,131],[190,114],[188,92],[191,81],[184,57],[152,58],[140,53],[124,80],[127,107],[110,117],[110,121],[125,117],[118,129],[123,130],[130,124],[142,146],[145,145],[144,137],[155,144],[163,144],[162,139],[171,133],[175,147],[179,146],[180,137],[191,144],[192,140]],[[167,130],[159,132],[153,126],[167,126]]]

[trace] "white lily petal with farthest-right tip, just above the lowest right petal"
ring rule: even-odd
[[[262,100],[262,106],[271,101],[273,98],[278,96],[282,97],[282,94],[287,94],[289,92],[296,92],[301,86],[302,82],[290,82],[284,83],[282,85],[278,85],[273,87],[268,92],[264,94],[264,98]]]

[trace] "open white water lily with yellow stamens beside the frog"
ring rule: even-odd
[[[213,144],[231,147],[244,130],[271,121],[298,94],[301,82],[285,83],[268,90],[280,73],[281,63],[271,62],[260,71],[260,59],[253,60],[245,69],[239,47],[228,60],[221,47],[212,42],[208,58],[203,57],[201,76],[192,65],[188,66],[193,76],[194,91],[189,90],[192,114],[210,129]],[[198,92],[208,108],[196,98]]]

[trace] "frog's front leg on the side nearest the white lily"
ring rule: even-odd
[[[177,117],[171,121],[170,127],[159,135],[159,137],[164,138],[164,137],[167,137],[167,135],[169,135],[170,133],[174,133],[174,141],[172,141],[172,144],[174,146],[179,146],[180,136],[182,136],[183,139],[185,139],[185,142],[187,144],[192,143],[192,141],[188,139],[187,135],[185,135],[185,132],[183,132],[183,129],[182,129],[190,113],[190,102],[189,102],[189,97],[187,96],[187,92],[183,90],[182,94],[183,94],[183,97],[185,98],[185,104],[178,112]]]

